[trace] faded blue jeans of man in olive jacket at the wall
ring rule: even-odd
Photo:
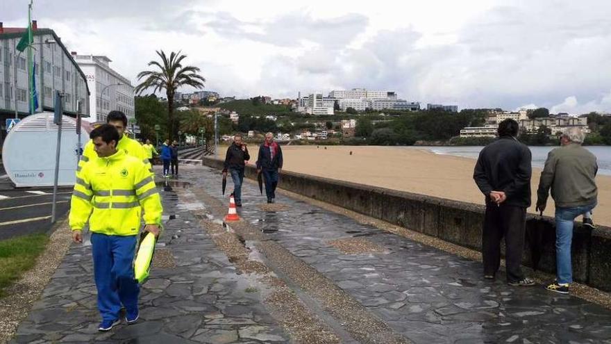
[[[573,282],[571,265],[571,242],[573,240],[573,222],[583,213],[592,211],[596,203],[573,208],[556,207],[556,273],[559,284]]]

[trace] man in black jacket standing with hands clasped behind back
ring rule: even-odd
[[[482,233],[484,277],[494,279],[501,265],[501,238],[505,237],[507,283],[533,286],[521,269],[526,208],[530,206],[530,149],[517,140],[514,120],[499,124],[499,139],[480,152],[474,180],[485,195],[486,213]]]

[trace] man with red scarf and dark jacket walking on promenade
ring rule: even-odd
[[[282,163],[280,145],[274,141],[274,134],[266,133],[265,142],[259,147],[257,173],[262,173],[265,179],[267,203],[276,202],[276,186],[278,186],[278,174],[282,172]]]

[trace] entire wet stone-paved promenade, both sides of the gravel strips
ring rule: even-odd
[[[142,320],[97,332],[90,247],[72,245],[19,327],[16,342],[307,343],[278,325],[282,319],[270,315],[262,292],[249,289],[258,285],[253,277],[240,273],[198,222],[201,208],[218,222],[221,215],[215,209],[226,207],[219,171],[185,166],[182,173],[180,181],[189,183],[189,189],[175,193],[176,184],[171,184],[174,190],[162,192],[166,216],[172,216],[157,254],[167,255],[169,267],[154,268],[144,284]],[[227,194],[232,188],[230,178]],[[503,274],[485,281],[476,261],[282,195],[267,208],[265,195],[253,183],[244,183],[242,199],[242,221],[230,223],[229,231],[235,227],[239,235],[248,227],[258,233],[242,241],[342,343],[390,339],[359,339],[341,312],[326,306],[322,293],[295,277],[276,253],[286,251],[290,260],[309,265],[308,273],[341,288],[346,300],[356,300],[365,316],[383,323],[403,343],[611,343],[611,311],[601,306],[549,293],[543,286],[510,287]],[[278,246],[257,252],[257,243]],[[369,252],[358,252],[362,247]]]

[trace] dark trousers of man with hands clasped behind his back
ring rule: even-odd
[[[505,265],[508,283],[521,281],[526,208],[501,204],[486,205],[482,253],[484,275],[494,276],[501,265],[501,239],[505,237]]]

